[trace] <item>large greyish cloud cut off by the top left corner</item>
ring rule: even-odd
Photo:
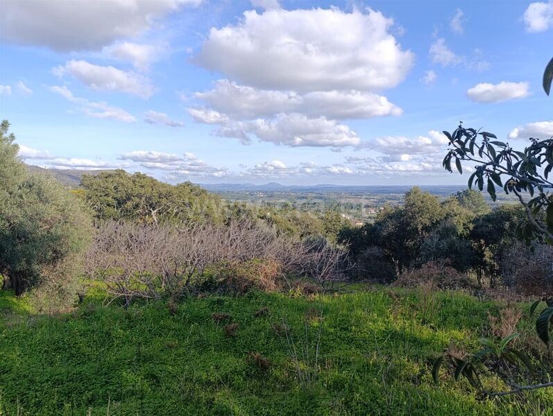
[[[202,0],[3,1],[0,40],[56,51],[98,50],[135,37],[180,6]]]

